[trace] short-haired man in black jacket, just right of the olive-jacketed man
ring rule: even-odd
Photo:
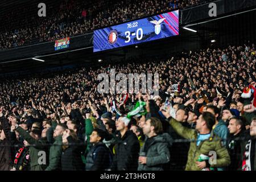
[[[229,121],[229,137],[226,144],[231,164],[227,168],[228,171],[242,170],[243,152],[245,152],[245,145],[249,139],[249,133],[244,130],[244,127],[241,119],[232,118]]]

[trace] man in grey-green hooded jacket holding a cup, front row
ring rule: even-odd
[[[147,119],[143,126],[147,138],[139,153],[138,171],[163,171],[163,164],[170,161],[172,138],[162,132],[162,123],[158,118]]]

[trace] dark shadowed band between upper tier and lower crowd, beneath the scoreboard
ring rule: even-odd
[[[49,66],[61,67],[67,64],[95,65],[100,64],[98,63],[98,59],[102,59],[106,62],[109,61],[111,63],[112,61],[130,59],[139,60],[141,57],[147,56],[159,57],[160,55],[164,55],[168,57],[174,53],[182,52],[184,50],[195,51],[208,47],[225,47],[226,44],[238,45],[246,40],[251,40],[253,42],[253,40],[256,39],[255,16],[256,11],[250,11],[249,13],[238,14],[223,19],[213,20],[211,22],[201,24],[194,23],[195,25],[190,28],[197,30],[196,33],[184,30],[180,27],[179,36],[156,40],[151,42],[151,44],[138,44],[138,48],[135,48],[135,46],[128,46],[100,53],[92,53],[93,48],[88,47],[78,51],[76,51],[76,49],[63,51],[63,53],[60,54],[52,52],[47,53],[46,55],[39,55],[43,56],[44,60],[46,60],[44,63],[31,59],[20,61],[2,60],[1,62],[3,63],[0,62],[0,71],[1,73],[16,72],[20,71],[20,66],[23,68],[22,70],[30,69],[35,71],[37,68],[40,70],[41,68],[47,68]],[[247,20],[245,21],[245,19]],[[210,40],[213,39],[216,40],[216,42],[211,43]],[[20,48],[16,49],[17,52],[19,52]],[[20,57],[20,59],[26,58],[27,57]]]

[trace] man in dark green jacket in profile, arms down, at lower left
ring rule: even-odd
[[[55,142],[52,144],[49,151],[49,166],[46,168],[46,171],[56,171],[61,169],[62,135],[67,129],[67,125],[63,123],[56,126],[53,133]]]

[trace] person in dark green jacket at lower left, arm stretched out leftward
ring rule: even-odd
[[[48,146],[47,138],[41,136],[40,130],[33,130],[27,133],[22,127],[11,126],[11,132],[17,131],[30,147],[30,168],[31,171],[44,171],[48,164]],[[44,158],[44,159],[43,159]]]

